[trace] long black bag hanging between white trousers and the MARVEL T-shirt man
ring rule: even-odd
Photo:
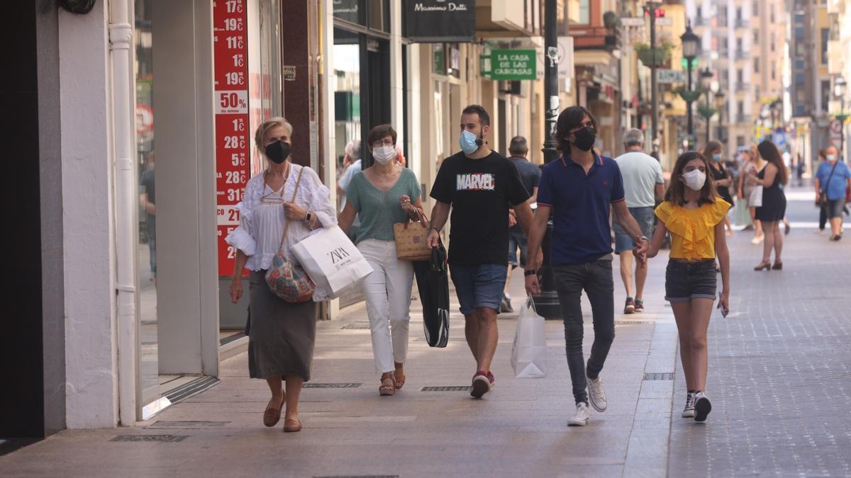
[[[449,339],[449,276],[443,244],[431,249],[431,260],[414,262],[423,304],[423,329],[430,347],[446,347]]]

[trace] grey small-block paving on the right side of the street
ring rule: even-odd
[[[818,219],[810,200],[792,221]],[[713,317],[705,425],[679,418],[677,364],[669,474],[851,476],[851,244],[786,236],[784,270],[752,270],[762,245],[734,236],[731,316]]]

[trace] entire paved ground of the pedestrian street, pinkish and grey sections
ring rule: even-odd
[[[515,379],[517,313],[500,316],[497,385],[477,401],[465,389],[473,363],[462,320],[453,316],[446,349],[430,349],[415,305],[408,383],[380,397],[368,322],[356,308],[319,324],[300,433],[262,425],[268,391],[247,378],[243,353],[223,362],[220,384],[151,420],[63,431],[0,458],[0,475],[851,475],[851,299],[841,282],[851,243],[815,236],[802,225],[817,219],[807,191],[789,195],[784,270],[755,272],[762,245],[745,231],[731,238],[732,312],[711,322],[706,424],[679,418],[685,386],[660,255],[650,263],[647,310],[616,317],[602,374],[608,411],[592,413],[586,427],[567,426],[573,399],[560,322],[547,323],[548,376]],[[614,275],[620,311],[625,294]],[[587,354],[587,303],[584,311]]]

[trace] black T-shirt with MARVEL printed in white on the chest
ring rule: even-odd
[[[452,205],[450,264],[508,264],[508,209],[529,198],[513,162],[495,151],[482,159],[449,156],[431,197]]]

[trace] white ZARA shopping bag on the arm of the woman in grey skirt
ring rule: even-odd
[[[316,284],[314,302],[340,297],[373,271],[346,233],[336,225],[320,229],[290,250]]]

